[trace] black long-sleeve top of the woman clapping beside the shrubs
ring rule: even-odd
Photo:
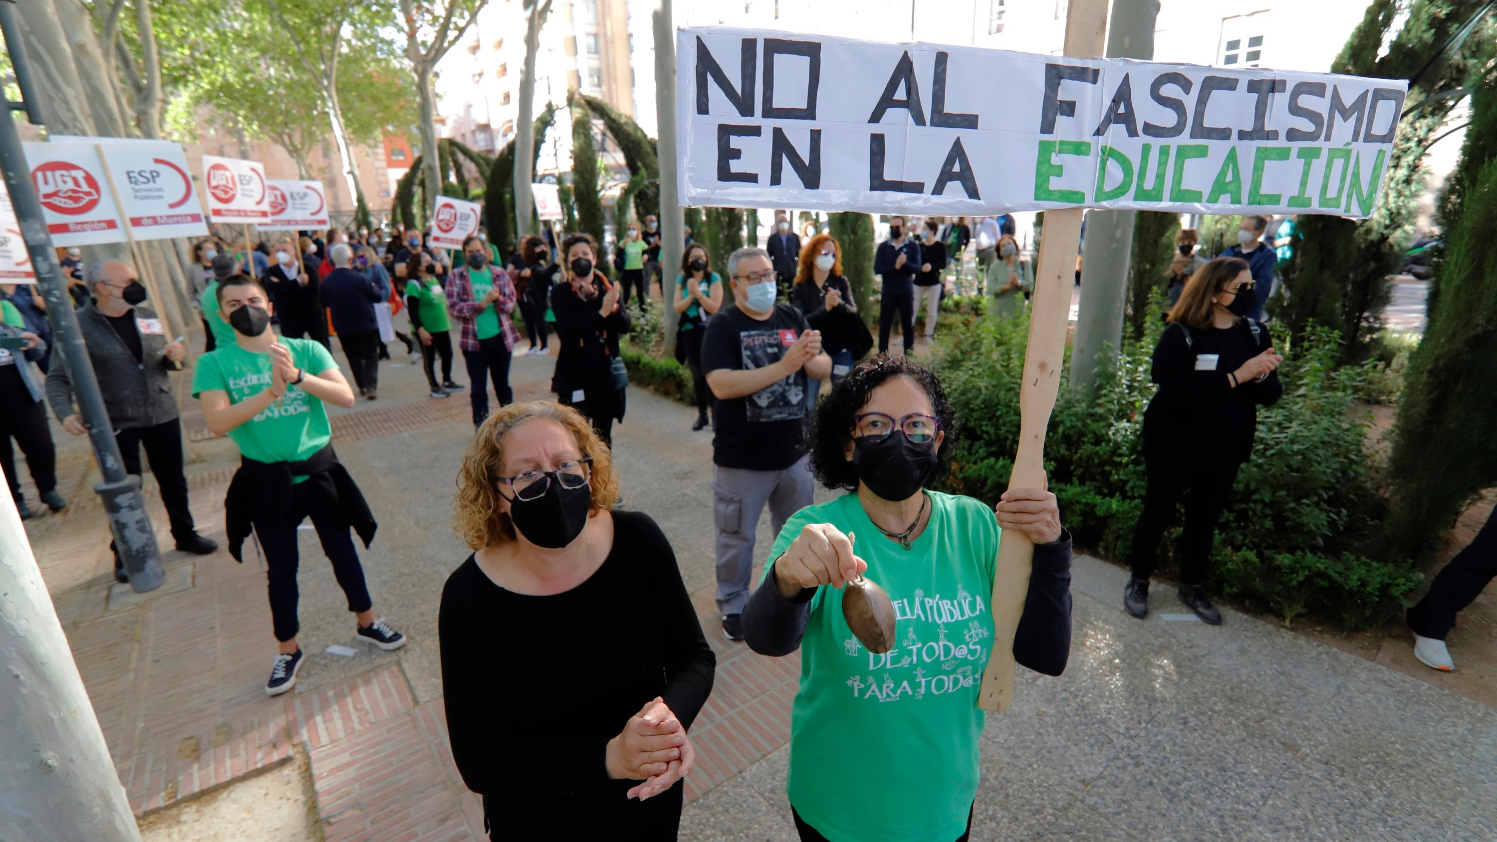
[[[1268,328],[1241,320],[1225,329],[1171,325],[1154,345],[1150,375],[1159,392],[1144,411],[1144,456],[1192,465],[1247,462],[1257,432],[1257,407],[1283,395],[1278,372],[1262,383],[1228,377],[1272,347]]]

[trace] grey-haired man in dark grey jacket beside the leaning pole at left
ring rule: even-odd
[[[223,259],[216,257],[214,265]],[[136,278],[135,269],[118,260],[97,260],[84,268],[94,301],[78,308],[78,329],[99,378],[124,471],[141,476],[141,447],[145,447],[177,549],[207,555],[219,544],[198,534],[187,508],[183,431],[169,377],[181,371],[187,348],[181,341],[168,341],[162,319],[144,307],[145,287]],[[63,429],[73,435],[88,432],[73,408],[73,387],[61,354],[52,356],[52,368],[46,372],[46,401],[63,419]],[[114,577],[129,580],[118,552]]]

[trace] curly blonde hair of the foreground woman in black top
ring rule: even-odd
[[[576,440],[582,456],[593,458],[591,505],[588,516],[608,508],[618,500],[618,477],[614,476],[614,458],[603,440],[593,431],[582,413],[563,407],[555,401],[531,401],[509,404],[488,416],[478,429],[463,467],[458,470],[458,492],[452,498],[452,528],[457,529],[470,549],[515,540],[515,525],[509,514],[499,510],[499,477],[504,464],[503,446],[509,431],[530,419],[549,419],[566,428]]]

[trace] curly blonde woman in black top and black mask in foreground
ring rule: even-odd
[[[669,541],[609,511],[617,492],[608,447],[549,401],[500,408],[464,456],[476,552],[437,628],[452,760],[491,839],[675,839],[716,658]]]

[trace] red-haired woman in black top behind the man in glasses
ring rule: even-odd
[[[841,274],[841,245],[832,235],[819,233],[801,248],[790,304],[801,311],[807,325],[822,332],[822,350],[832,357],[832,383],[852,371],[852,363],[873,347],[873,335],[858,316],[858,302]],[[820,390],[819,381],[807,381],[811,407]]]

